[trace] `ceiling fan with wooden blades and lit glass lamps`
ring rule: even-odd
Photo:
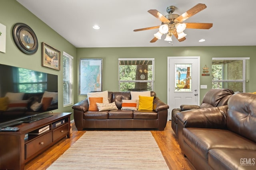
[[[150,43],[156,42],[158,39],[161,39],[162,34],[166,34],[165,41],[172,41],[172,35],[178,39],[178,41],[184,41],[186,38],[186,34],[183,32],[186,28],[193,28],[193,29],[210,29],[212,27],[212,23],[182,23],[186,19],[194,16],[198,12],[204,10],[206,8],[205,4],[197,4],[196,6],[192,7],[190,10],[186,11],[182,15],[173,14],[176,7],[169,6],[166,8],[166,12],[168,13],[167,16],[163,16],[157,10],[148,10],[150,14],[154,17],[158,18],[162,21],[162,24],[159,26],[154,27],[147,27],[141,29],[134,29],[133,31],[144,31],[148,29],[156,29],[158,28],[159,31],[154,34],[154,38],[150,41]]]

